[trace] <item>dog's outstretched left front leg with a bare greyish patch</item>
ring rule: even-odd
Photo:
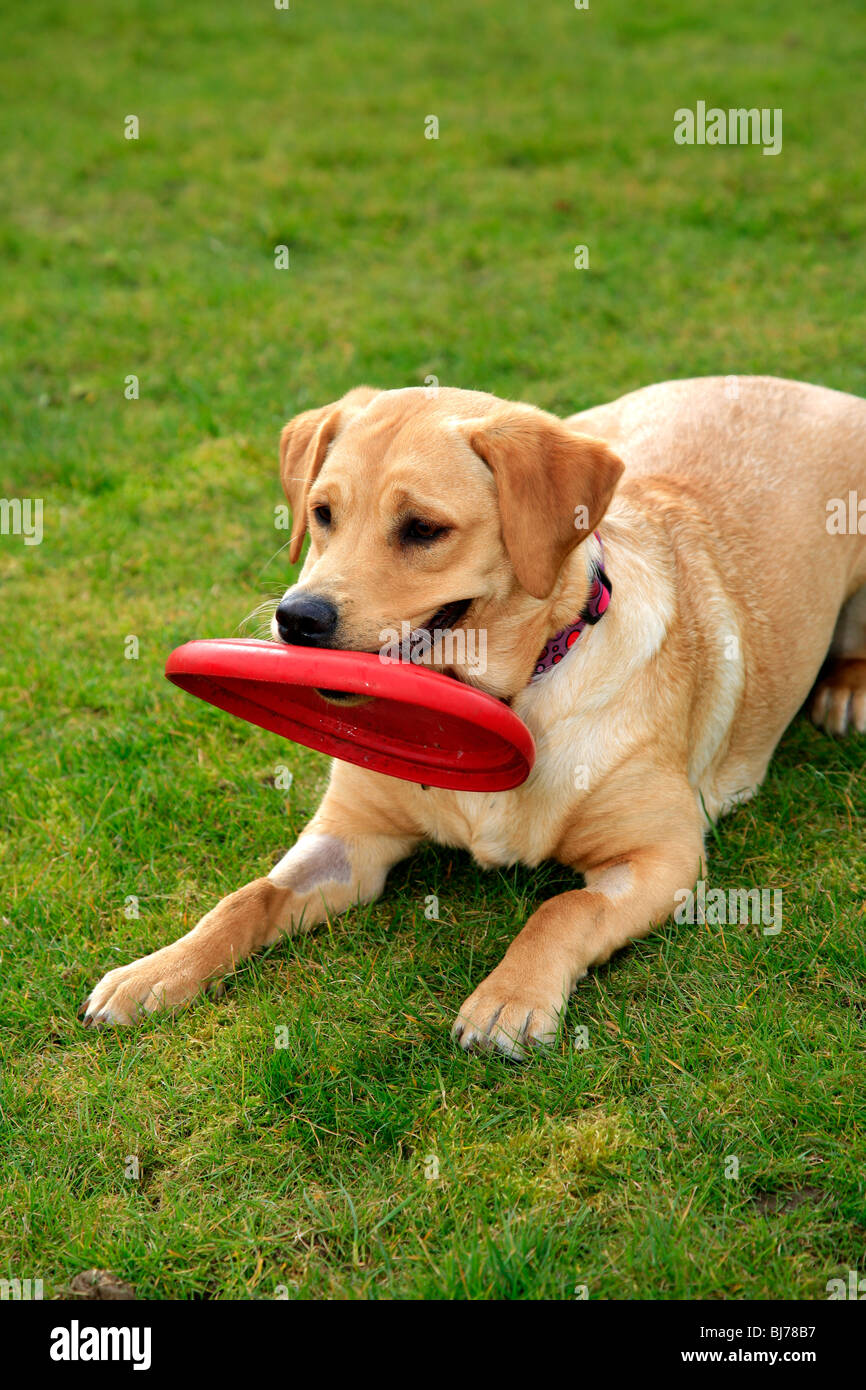
[[[278,937],[377,898],[388,870],[410,853],[418,837],[396,826],[393,813],[379,809],[366,788],[349,809],[345,796],[332,795],[336,780],[267,878],[222,898],[171,945],[110,970],[83,1006],[85,1023],[133,1023],[158,1009],[177,1009]]]

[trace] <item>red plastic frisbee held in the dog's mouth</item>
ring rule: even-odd
[[[535,762],[532,735],[507,705],[370,652],[220,638],[178,646],[165,676],[260,728],[427,787],[506,791]],[[339,703],[320,689],[366,698]]]

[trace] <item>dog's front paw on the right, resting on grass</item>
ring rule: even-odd
[[[513,1061],[556,1038],[564,991],[537,980],[520,980],[509,966],[488,974],[460,1009],[452,1037],[467,1052],[499,1048]]]

